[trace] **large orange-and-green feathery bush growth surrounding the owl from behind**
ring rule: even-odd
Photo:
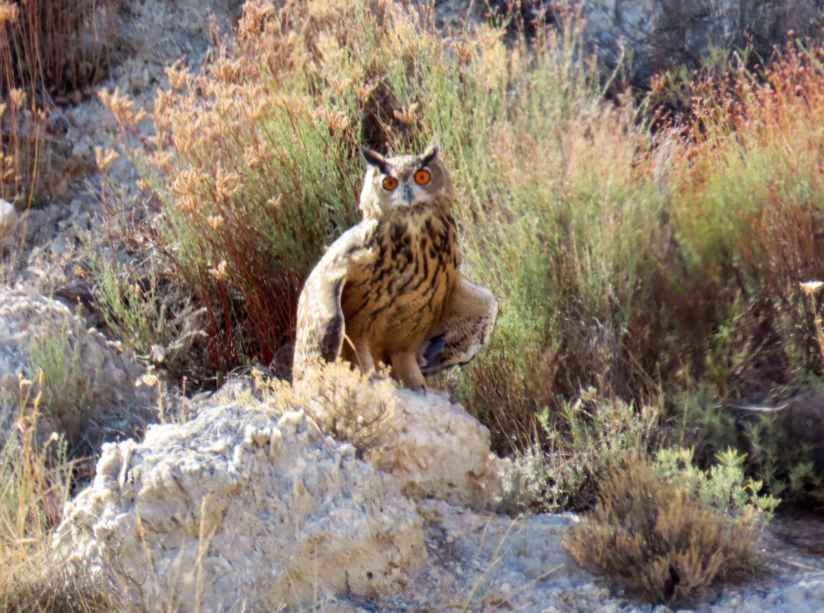
[[[207,309],[213,366],[274,360],[288,375],[302,280],[358,217],[359,145],[403,152],[437,135],[466,272],[504,300],[461,384],[499,442],[558,394],[644,381],[624,344],[669,244],[666,160],[636,110],[603,103],[565,15],[508,45],[487,26],[444,36],[428,9],[391,2],[248,2],[206,73],[170,69],[157,138],[133,154],[161,209],[146,237]],[[135,135],[130,101],[104,101]]]

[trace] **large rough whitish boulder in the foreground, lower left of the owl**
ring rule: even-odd
[[[105,445],[54,537],[147,611],[279,611],[400,590],[427,559],[390,476],[302,411],[218,403]]]

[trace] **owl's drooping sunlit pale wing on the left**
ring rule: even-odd
[[[293,381],[319,361],[335,362],[344,344],[344,311],[340,296],[353,268],[363,264],[368,227],[360,223],[344,232],[312,269],[297,301],[297,339]]]

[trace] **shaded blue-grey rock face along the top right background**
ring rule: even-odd
[[[606,73],[616,67],[634,85],[648,87],[655,73],[684,65],[699,68],[714,48],[730,51],[752,44],[763,58],[793,37],[820,36],[821,0],[523,0],[513,23],[539,17],[550,24],[578,10],[583,17],[583,50],[597,56]],[[506,15],[507,0],[438,0],[438,26],[461,29],[467,22],[488,21],[489,11]],[[572,11],[570,11],[572,7]]]

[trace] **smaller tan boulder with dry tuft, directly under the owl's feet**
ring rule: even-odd
[[[220,393],[243,402],[249,392],[237,381]],[[311,369],[294,387],[275,383],[260,400],[276,412],[305,410],[325,433],[352,442],[389,473],[410,498],[476,510],[501,502],[501,475],[510,461],[489,451],[489,429],[445,392],[398,389],[391,379],[363,377],[335,363]]]

